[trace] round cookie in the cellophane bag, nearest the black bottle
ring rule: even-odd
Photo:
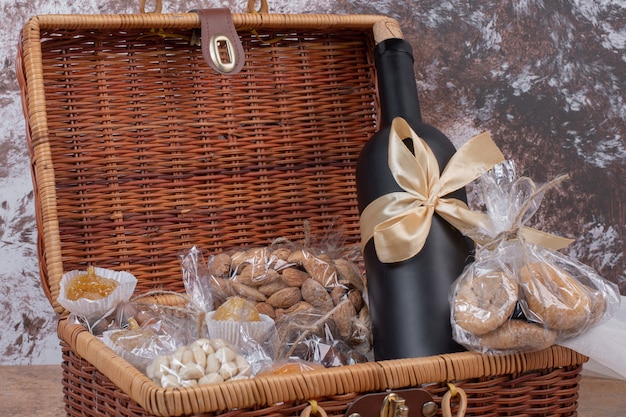
[[[454,320],[474,335],[489,333],[509,319],[517,298],[515,278],[503,271],[465,276],[454,296]]]

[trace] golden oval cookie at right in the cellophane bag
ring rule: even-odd
[[[524,265],[519,284],[528,308],[554,330],[569,330],[587,323],[592,300],[585,287],[566,272],[545,262]]]

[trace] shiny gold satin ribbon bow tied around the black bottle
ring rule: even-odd
[[[404,139],[412,141],[414,152],[404,144]],[[461,200],[446,197],[504,161],[488,132],[474,136],[461,146],[441,174],[428,144],[402,118],[392,121],[388,150],[389,169],[403,191],[385,194],[363,210],[360,219],[363,247],[373,238],[381,262],[410,259],[424,247],[435,213],[462,234],[472,235],[479,244],[491,240],[487,235],[476,236],[477,230],[490,229],[487,215],[471,211]],[[546,240],[542,243],[544,246],[560,249],[571,242],[533,231],[524,233],[539,235]]]

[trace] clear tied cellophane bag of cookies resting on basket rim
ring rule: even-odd
[[[485,221],[470,236],[475,261],[452,285],[454,339],[481,353],[547,348],[580,335],[619,308],[615,284],[561,253],[561,238],[530,229],[528,220],[553,183],[518,178],[513,162],[480,179]]]

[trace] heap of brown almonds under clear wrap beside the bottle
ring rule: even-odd
[[[369,340],[364,334],[369,329],[365,283],[357,265],[346,258],[261,247],[213,255],[209,269],[223,299],[244,297],[277,322],[298,313],[330,313],[342,340]]]

